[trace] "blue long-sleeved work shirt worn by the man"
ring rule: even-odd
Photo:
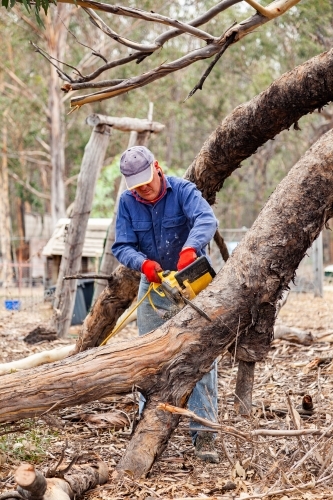
[[[165,179],[166,193],[155,204],[141,203],[131,191],[120,198],[112,253],[136,271],[146,259],[164,270],[176,270],[183,247],[205,255],[217,228],[214,212],[195,184],[178,177]]]

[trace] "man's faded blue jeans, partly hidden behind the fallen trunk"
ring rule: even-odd
[[[147,293],[149,281],[144,275],[141,276],[138,301]],[[155,311],[150,305],[148,297],[138,308],[138,330],[139,335],[156,330],[165,323],[166,319],[162,315],[167,311],[173,312],[175,307],[167,297],[161,297],[156,292],[151,292],[151,299],[158,311]],[[159,314],[159,311],[161,315]],[[139,400],[139,413],[141,414],[145,404],[145,398],[141,395]],[[205,373],[194,387],[188,400],[188,409],[196,413],[199,417],[207,418],[216,422],[217,420],[217,363],[214,361],[210,372]],[[190,422],[190,429],[205,429],[205,427],[196,422]],[[192,440],[195,442],[197,430],[191,432]]]

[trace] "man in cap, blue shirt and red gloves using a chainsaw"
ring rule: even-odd
[[[184,269],[197,257],[205,255],[217,220],[196,186],[184,179],[163,174],[152,152],[144,146],[127,149],[120,159],[120,171],[128,190],[120,199],[116,221],[114,256],[126,267],[141,271],[138,300],[151,282],[160,283],[162,270]],[[138,308],[139,335],[161,326],[173,305],[167,297],[151,292]],[[166,315],[167,316],[167,315]],[[144,403],[140,402],[141,413]],[[201,417],[216,420],[217,369],[213,369],[195,386],[188,407]],[[195,454],[209,462],[219,461],[214,448],[215,436],[203,426],[192,423]],[[195,429],[194,429],[195,428]]]

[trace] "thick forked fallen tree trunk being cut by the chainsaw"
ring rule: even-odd
[[[241,359],[263,359],[275,305],[324,224],[333,215],[333,132],[323,136],[274,191],[213,282],[189,306],[144,337],[80,353],[62,362],[4,375],[0,421],[81,404],[137,387],[147,399],[119,472],[147,474],[178,419],[158,402],[184,407],[195,383],[235,342]],[[153,429],[153,432],[151,432]],[[135,450],[135,451],[134,451]]]

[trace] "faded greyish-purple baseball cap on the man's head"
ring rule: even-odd
[[[145,146],[126,149],[120,158],[120,172],[128,189],[149,184],[154,175],[154,155]]]

